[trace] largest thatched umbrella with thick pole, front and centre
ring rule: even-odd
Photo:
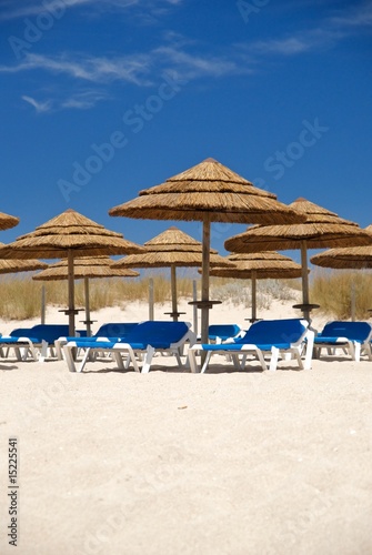
[[[140,191],[132,201],[114,206],[110,215],[150,220],[187,220],[203,223],[201,337],[208,342],[211,222],[285,223],[302,216],[278,202],[213,159],[179,173],[164,183]]]

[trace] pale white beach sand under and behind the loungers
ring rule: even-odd
[[[291,304],[259,315],[298,316]],[[249,315],[224,305],[211,322]],[[148,309],[93,317],[147,320]],[[47,322],[66,316],[51,311]],[[201,375],[155,359],[142,375],[109,361],[83,374],[63,361],[1,362],[0,553],[372,554],[372,362],[281,366],[235,372],[215,357]],[[12,435],[17,548],[6,535]]]

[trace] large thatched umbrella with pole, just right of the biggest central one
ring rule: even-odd
[[[254,225],[244,233],[230,238],[224,245],[233,252],[260,252],[301,249],[302,305],[309,320],[313,306],[309,301],[308,249],[371,244],[372,238],[356,223],[343,220],[334,212],[305,199],[298,199],[290,206],[306,216],[300,224]]]

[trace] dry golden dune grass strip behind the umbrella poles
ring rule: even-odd
[[[154,273],[153,294],[155,303],[170,302],[170,281],[167,273]],[[27,320],[40,315],[42,286],[47,305],[66,306],[68,291],[64,281],[37,282],[30,274],[8,274],[0,278],[0,317],[3,320]],[[149,299],[150,275],[132,280],[90,280],[90,307],[98,311],[105,306],[124,306],[134,301]],[[192,299],[192,278],[178,278],[178,296]],[[200,278],[197,280],[200,289]],[[270,309],[273,300],[293,301],[299,297],[301,280],[260,280],[257,286],[258,309]],[[354,301],[352,295],[354,291]],[[321,306],[320,312],[333,319],[351,317],[352,302],[356,320],[366,320],[372,309],[372,272],[315,270],[310,283],[311,302]],[[200,293],[199,293],[200,294]],[[211,297],[234,305],[251,306],[250,280],[211,278]],[[83,282],[76,282],[76,304],[84,305]]]

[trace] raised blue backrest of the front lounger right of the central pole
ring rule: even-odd
[[[305,331],[303,321],[290,320],[260,320],[248,329],[245,335],[235,340],[235,343],[295,343]]]

